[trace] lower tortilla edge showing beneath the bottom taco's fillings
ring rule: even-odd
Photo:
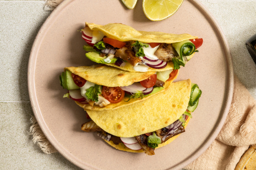
[[[185,126],[184,128],[186,129],[187,125],[188,125],[188,122],[190,120],[190,117],[188,117],[186,123],[185,123]],[[180,133],[181,134],[181,133]],[[170,144],[172,141],[174,141],[177,137],[180,136],[180,134],[174,136],[174,137],[171,137],[170,139],[168,139],[166,142],[162,143],[162,144],[158,144],[158,147],[157,148],[161,148],[167,144]],[[127,148],[124,144],[120,143],[118,145],[114,144],[112,141],[107,141],[105,139],[103,139],[104,141],[106,141],[108,144],[110,144],[111,146],[113,146],[114,148],[118,149],[118,150],[121,150],[121,151],[126,151],[126,152],[134,152],[134,153],[144,153],[144,151],[142,149],[140,150],[132,150],[132,149],[129,149]]]

